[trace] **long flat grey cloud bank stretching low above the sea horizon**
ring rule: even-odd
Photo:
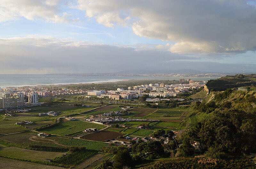
[[[157,70],[162,69],[166,61],[194,59],[151,48],[136,50],[128,46],[93,44],[38,35],[0,38],[0,48],[1,74],[95,73],[139,68]]]

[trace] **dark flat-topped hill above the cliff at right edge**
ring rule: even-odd
[[[216,80],[209,80],[206,84],[209,91],[225,91],[227,89],[256,85],[256,74],[225,76]]]

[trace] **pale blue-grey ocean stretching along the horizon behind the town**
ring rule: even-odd
[[[185,80],[191,79],[194,81],[207,81],[210,79],[216,79],[216,77],[83,76],[75,74],[0,75],[0,87],[104,83],[129,79],[179,80],[181,78]]]

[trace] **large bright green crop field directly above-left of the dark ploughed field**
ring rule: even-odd
[[[99,129],[105,128],[105,126],[86,122],[86,121],[76,120],[76,121],[61,122],[58,126],[55,126],[49,129],[43,129],[43,130],[40,130],[40,132],[56,134],[59,136],[68,136],[77,132],[81,132],[88,128],[97,128],[99,130]]]

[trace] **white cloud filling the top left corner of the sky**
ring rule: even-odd
[[[72,18],[72,15],[61,11],[61,3],[61,0],[1,0],[0,23],[21,17],[53,23],[77,21],[77,18]]]

